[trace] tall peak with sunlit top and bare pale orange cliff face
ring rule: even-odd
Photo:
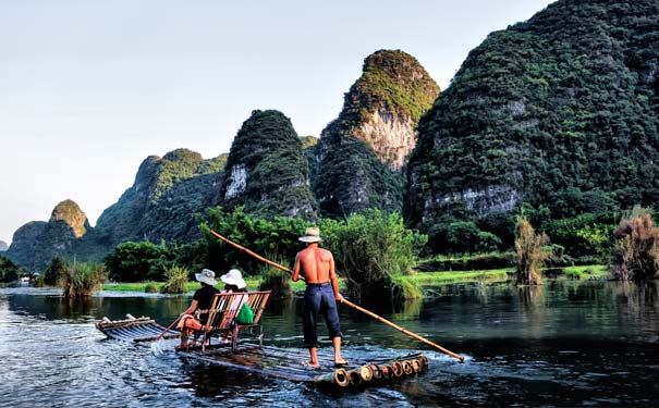
[[[321,213],[401,209],[400,169],[416,145],[416,124],[439,87],[412,55],[380,50],[345,94],[343,109],[315,149],[313,188]]]

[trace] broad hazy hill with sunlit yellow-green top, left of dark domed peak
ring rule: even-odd
[[[212,205],[227,156],[204,160],[188,149],[149,156],[133,186],[99,217],[95,245],[114,247],[125,240],[188,242],[198,237],[195,214]]]

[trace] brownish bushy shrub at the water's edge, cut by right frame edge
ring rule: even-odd
[[[613,279],[642,281],[659,277],[659,228],[649,213],[635,209],[614,232],[615,246],[610,268]]]

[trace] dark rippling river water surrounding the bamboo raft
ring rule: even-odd
[[[423,350],[429,371],[359,392],[331,393],[107,339],[103,316],[167,325],[190,296],[0,288],[0,407],[639,406],[659,405],[659,283],[546,281],[539,287],[452,285],[430,299],[373,311],[467,357],[461,363],[340,307],[344,356]],[[268,345],[302,343],[300,299],[272,301]],[[326,335],[321,326],[319,333]],[[325,339],[325,338],[324,338]],[[321,347],[330,347],[327,342]]]

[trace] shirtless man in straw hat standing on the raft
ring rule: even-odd
[[[310,361],[306,366],[319,368],[318,336],[316,335],[316,325],[318,313],[322,313],[329,336],[334,347],[334,366],[341,367],[347,364],[347,361],[341,357],[341,327],[339,325],[339,313],[337,311],[337,300],[343,301],[343,296],[339,293],[339,281],[334,271],[334,257],[327,249],[318,247],[320,230],[318,227],[308,227],[304,236],[298,238],[307,244],[306,249],[297,252],[295,257],[295,267],[293,268],[293,282],[297,282],[304,275],[306,281],[306,290],[304,292],[304,344],[309,349]]]

